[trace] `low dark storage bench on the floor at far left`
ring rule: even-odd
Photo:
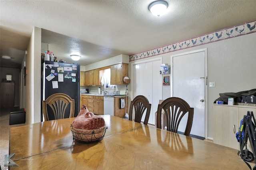
[[[26,109],[15,108],[10,111],[10,125],[26,122]]]

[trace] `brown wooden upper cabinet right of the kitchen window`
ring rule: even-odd
[[[111,67],[110,84],[125,84],[122,79],[128,76],[128,64],[120,63],[112,65]]]

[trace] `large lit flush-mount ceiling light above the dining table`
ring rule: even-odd
[[[152,12],[154,16],[162,16],[168,7],[168,3],[164,0],[157,0],[149,4],[148,10]]]

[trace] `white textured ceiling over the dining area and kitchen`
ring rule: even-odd
[[[256,20],[256,0],[166,0],[168,12],[153,16],[153,0],[0,0],[1,66],[21,63],[34,27],[57,59],[72,52],[87,65],[134,55]]]

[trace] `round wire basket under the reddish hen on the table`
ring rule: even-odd
[[[104,138],[106,129],[108,129],[106,125],[104,127],[100,127],[98,129],[91,129],[91,130],[77,129],[72,127],[71,125],[71,132],[73,135],[73,139],[75,139],[78,142],[85,142],[85,143],[101,141]]]

